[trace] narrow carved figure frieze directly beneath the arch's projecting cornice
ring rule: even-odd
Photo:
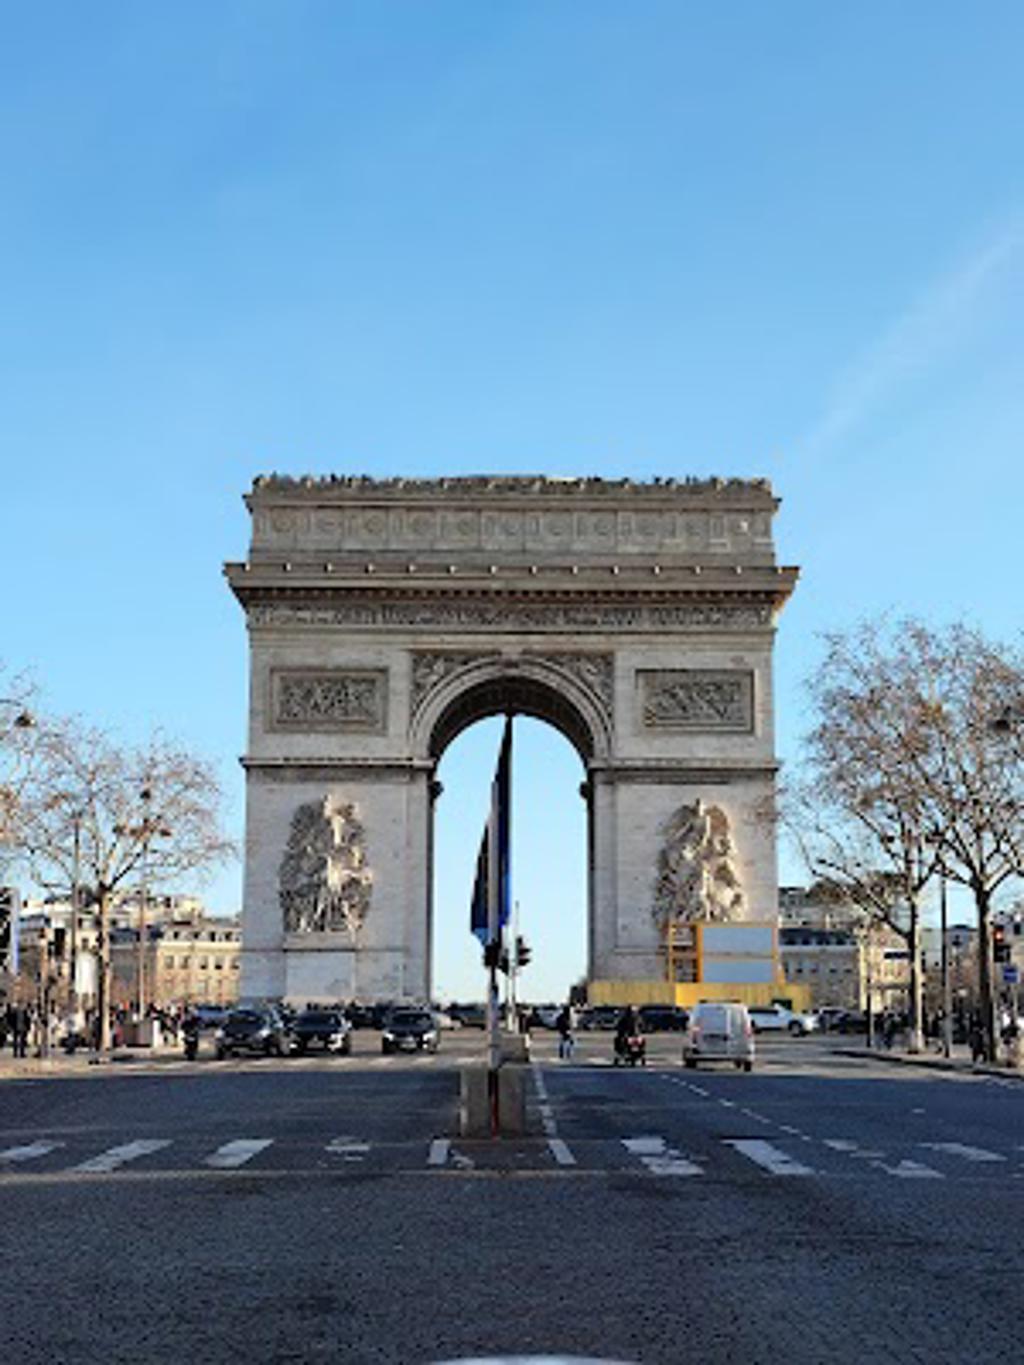
[[[350,601],[330,606],[254,603],[250,625],[392,627],[466,631],[756,631],[771,625],[771,602],[507,602]]]

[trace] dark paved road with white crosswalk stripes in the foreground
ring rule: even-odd
[[[445,1043],[0,1081],[3,1358],[1024,1360],[1024,1084],[542,1040],[535,1136],[471,1143]]]

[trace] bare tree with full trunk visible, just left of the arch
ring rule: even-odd
[[[18,842],[33,880],[96,906],[101,1050],[111,1040],[112,905],[143,867],[153,886],[168,886],[233,856],[221,801],[212,766],[161,737],[126,748],[76,721],[41,726]]]

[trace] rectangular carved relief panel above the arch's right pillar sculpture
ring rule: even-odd
[[[750,669],[638,669],[642,730],[754,733]]]

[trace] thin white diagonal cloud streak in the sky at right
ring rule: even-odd
[[[994,287],[1024,261],[1024,220],[1016,218],[926,292],[870,345],[829,397],[801,442],[822,455],[867,420],[915,374],[963,345]]]

